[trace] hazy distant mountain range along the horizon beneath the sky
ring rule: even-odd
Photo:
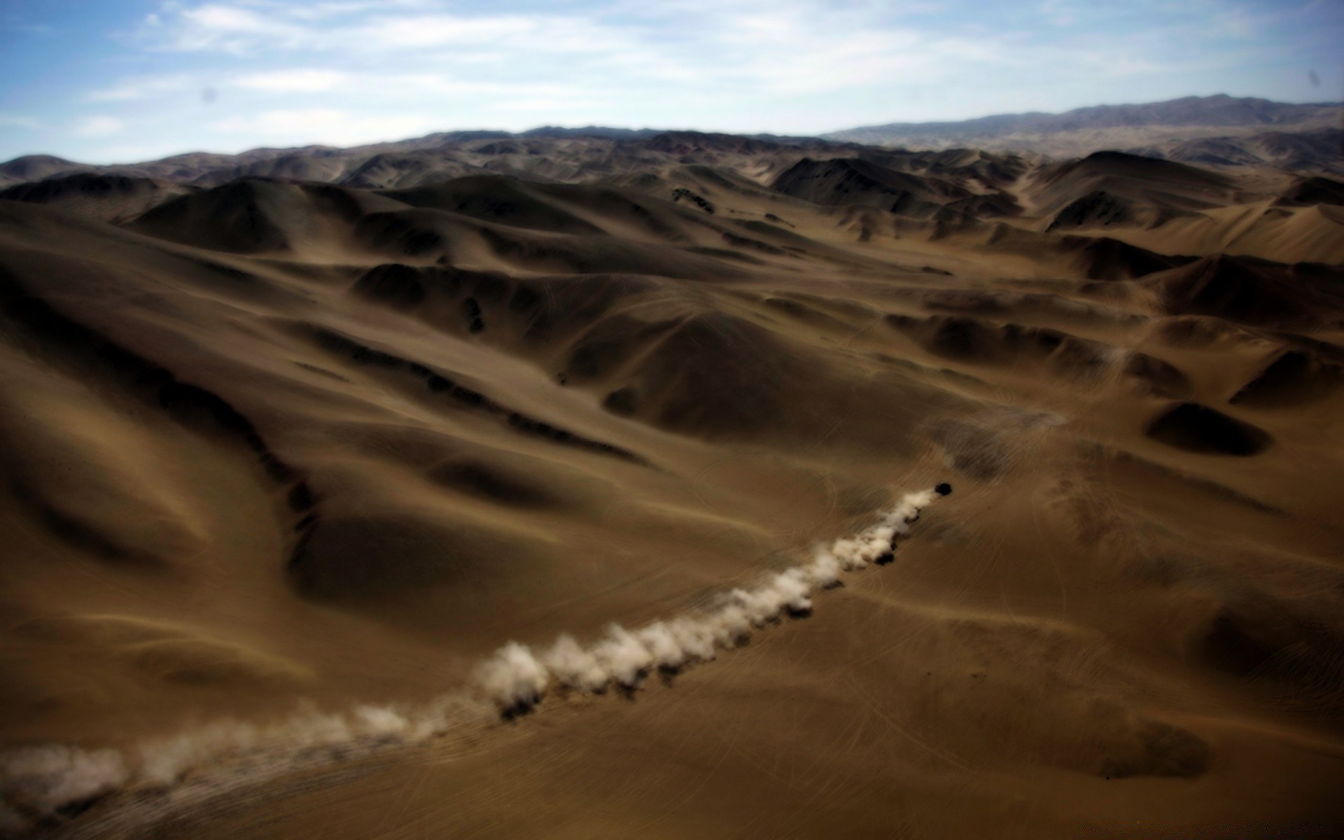
[[[0,188],[48,177],[112,173],[176,183],[220,184],[234,177],[285,177],[363,187],[407,179],[456,177],[492,171],[531,179],[574,180],[606,173],[617,157],[656,152],[738,153],[747,148],[800,146],[812,153],[853,153],[863,146],[943,151],[973,148],[1054,159],[1121,151],[1204,165],[1270,165],[1306,173],[1344,175],[1339,102],[1293,105],[1228,95],[1185,97],[1148,105],[1101,105],[1062,114],[999,114],[961,122],[892,122],[821,137],[716,134],[652,128],[542,126],[527,132],[454,130],[348,149],[310,145],[251,149],[239,155],[190,152],[140,164],[91,165],[50,155],[0,164]],[[566,141],[586,141],[573,153]],[[535,145],[542,144],[542,145]],[[559,144],[559,145],[556,145]],[[544,153],[544,165],[527,160]]]

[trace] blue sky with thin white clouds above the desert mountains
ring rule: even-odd
[[[0,0],[0,160],[1344,99],[1344,0]]]

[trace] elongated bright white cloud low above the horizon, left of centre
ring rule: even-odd
[[[257,144],[359,145],[425,134],[441,128],[441,120],[427,114],[355,114],[335,108],[302,108],[227,117],[207,128]]]

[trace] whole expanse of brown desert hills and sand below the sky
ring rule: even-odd
[[[1340,825],[1344,183],[1235,142],[4,164],[0,835]]]

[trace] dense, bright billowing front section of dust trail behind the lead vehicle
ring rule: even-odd
[[[891,559],[896,539],[939,496],[948,484],[907,493],[867,530],[818,547],[812,562],[771,575],[751,589],[734,589],[706,610],[655,621],[638,630],[612,624],[606,634],[585,648],[573,636],[560,636],[547,650],[534,653],[511,641],[476,672],[476,687],[500,712],[524,712],[552,688],[601,692],[607,687],[633,689],[653,671],[677,671],[712,660],[718,648],[732,648],[753,632],[784,614],[812,612],[812,595],[840,582],[840,574]]]

